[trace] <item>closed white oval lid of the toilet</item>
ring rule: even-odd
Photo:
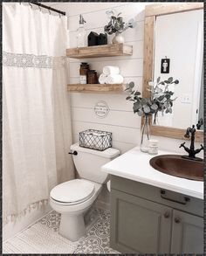
[[[74,203],[86,201],[92,197],[94,192],[94,184],[82,180],[74,179],[65,183],[61,183],[50,192],[52,199],[62,203]]]

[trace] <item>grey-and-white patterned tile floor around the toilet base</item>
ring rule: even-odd
[[[90,212],[90,219],[95,219],[93,225],[90,226],[86,235],[79,239],[78,247],[73,253],[115,253],[109,247],[110,235],[110,212],[94,208]],[[42,225],[47,225],[54,232],[58,232],[60,223],[60,214],[52,211],[45,218],[40,220]]]

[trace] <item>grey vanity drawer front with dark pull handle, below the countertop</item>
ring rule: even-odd
[[[119,176],[111,176],[111,189],[120,190],[130,195],[146,198],[203,217],[203,200],[195,197],[184,196],[171,190],[161,190],[161,188]]]

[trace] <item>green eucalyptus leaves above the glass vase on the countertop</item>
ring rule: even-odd
[[[161,78],[158,77],[156,83],[148,83],[150,97],[142,98],[141,93],[138,90],[134,90],[134,82],[130,82],[127,84],[126,88],[126,91],[129,93],[126,100],[134,101],[134,113],[140,116],[143,114],[154,114],[155,123],[155,116],[158,112],[161,112],[161,114],[172,113],[173,101],[176,98],[172,99],[174,93],[169,90],[171,84],[179,84],[179,80],[173,80],[173,78],[170,77],[168,80],[161,81]]]

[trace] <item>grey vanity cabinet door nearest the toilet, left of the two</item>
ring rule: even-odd
[[[120,253],[169,253],[172,209],[111,190],[110,246]]]

